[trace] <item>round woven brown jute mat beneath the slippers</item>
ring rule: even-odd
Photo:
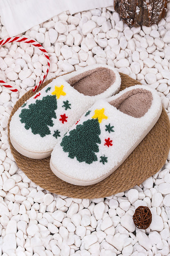
[[[135,84],[140,84],[125,74],[120,73],[120,75],[121,90]],[[41,85],[39,90],[50,83],[51,80]],[[15,111],[35,93],[37,91],[33,92],[30,90],[16,102],[9,122]],[[40,187],[52,193],[73,198],[101,198],[125,191],[135,185],[140,185],[144,180],[160,170],[166,162],[170,149],[170,122],[165,109],[163,109],[156,125],[154,125],[152,130],[123,164],[108,178],[90,186],[76,186],[60,180],[49,167],[50,157],[40,160],[25,157],[13,148],[10,139],[9,143],[18,167]]]

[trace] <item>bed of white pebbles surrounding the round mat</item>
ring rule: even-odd
[[[75,14],[64,12],[25,35],[50,56],[52,78],[94,63],[108,64],[157,89],[170,117],[170,4],[168,15],[150,28],[129,28],[113,7]],[[0,23],[0,37],[8,37]],[[107,198],[75,199],[35,185],[18,169],[9,149],[11,110],[46,72],[47,60],[25,43],[0,48],[0,255],[3,256],[166,256],[170,255],[170,154],[154,176]],[[146,230],[132,221],[148,206]]]

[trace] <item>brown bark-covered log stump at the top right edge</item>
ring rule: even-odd
[[[168,0],[114,0],[114,9],[130,26],[151,26],[166,16]]]

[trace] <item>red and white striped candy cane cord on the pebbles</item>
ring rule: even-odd
[[[0,41],[0,46],[7,44],[7,43],[12,43],[12,42],[24,42],[27,44],[32,44],[33,46],[37,47],[38,49],[40,49],[40,51],[42,51],[42,53],[45,55],[45,57],[47,58],[47,72],[46,74],[43,76],[43,79],[40,80],[40,82],[38,83],[38,85],[36,85],[33,89],[33,92],[36,92],[36,90],[38,90],[38,88],[40,87],[40,85],[44,82],[45,78],[47,77],[47,74],[49,72],[49,55],[47,53],[47,51],[45,50],[45,48],[42,47],[41,44],[39,44],[38,42],[36,42],[36,40],[33,39],[29,39],[27,37],[9,37],[7,39],[1,40]],[[0,80],[0,83],[2,83],[2,85],[4,85],[4,87],[9,88],[9,90],[11,90],[12,92],[18,92],[17,89],[13,88],[11,85],[8,85],[7,83],[5,83],[3,80]]]

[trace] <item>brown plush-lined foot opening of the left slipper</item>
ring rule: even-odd
[[[68,83],[84,95],[95,96],[105,92],[115,80],[113,70],[97,67],[70,78]]]

